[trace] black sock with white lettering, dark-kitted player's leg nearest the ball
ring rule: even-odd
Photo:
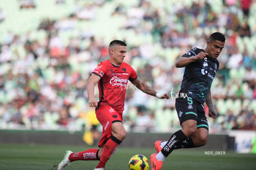
[[[179,146],[181,145],[181,143],[187,139],[186,135],[184,135],[184,133],[182,132],[182,130],[178,130],[177,132],[175,132],[171,138],[168,140],[168,142],[166,143],[166,145],[164,145],[163,149],[161,150],[161,152],[163,153],[163,155],[165,157],[167,157],[174,149],[175,149],[175,145]]]

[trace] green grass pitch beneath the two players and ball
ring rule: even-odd
[[[88,147],[63,145],[19,145],[0,143],[0,169],[57,169],[65,151],[83,151]],[[153,148],[119,147],[106,164],[106,170],[128,169],[128,161],[142,154],[150,161]],[[55,167],[53,165],[56,164]],[[93,169],[98,161],[75,161],[65,169]],[[256,155],[227,152],[225,155],[207,155],[205,150],[174,150],[166,158],[162,169],[256,169]]]

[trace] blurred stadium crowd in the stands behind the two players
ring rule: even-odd
[[[11,0],[0,3],[0,129],[82,130],[98,125],[87,80],[108,58],[108,43],[128,45],[126,62],[170,100],[127,86],[127,131],[179,127],[174,98],[183,69],[177,57],[226,35],[211,93],[219,116],[210,133],[256,130],[256,1]],[[207,107],[205,107],[207,109]]]

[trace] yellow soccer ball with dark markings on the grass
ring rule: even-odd
[[[148,170],[148,159],[144,155],[134,155],[129,161],[130,170]]]

